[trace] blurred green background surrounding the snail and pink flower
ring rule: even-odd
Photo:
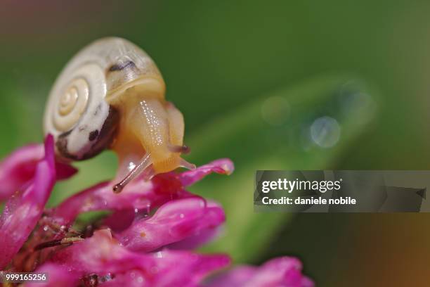
[[[74,53],[124,37],[162,71],[188,159],[235,162],[192,189],[228,215],[205,252],[296,255],[318,286],[428,286],[429,215],[255,214],[252,195],[257,169],[429,169],[429,13],[429,1],[3,1],[0,155],[41,141],[46,96]],[[325,116],[338,127],[310,135]],[[112,153],[79,163],[51,204],[115,165]]]

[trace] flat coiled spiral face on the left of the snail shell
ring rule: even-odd
[[[97,63],[80,65],[58,78],[46,104],[45,129],[67,158],[89,154],[95,144],[89,135],[100,132],[109,114],[105,96],[105,74]]]

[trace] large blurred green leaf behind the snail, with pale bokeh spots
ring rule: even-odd
[[[342,151],[369,126],[375,107],[374,94],[355,77],[319,77],[244,103],[233,113],[220,111],[218,118],[186,138],[192,148],[190,162],[235,162],[230,177],[209,177],[190,189],[219,201],[226,210],[225,230],[202,250],[228,253],[236,262],[255,260],[292,214],[254,212],[254,172],[334,167]]]

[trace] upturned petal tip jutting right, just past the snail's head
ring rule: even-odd
[[[206,177],[211,172],[216,172],[218,174],[231,174],[235,170],[233,162],[228,158],[221,158],[219,160],[214,160],[209,162],[207,165],[202,165],[197,167],[195,170],[188,170],[178,174],[178,178],[183,186],[190,186],[196,181],[200,181],[203,177]]]

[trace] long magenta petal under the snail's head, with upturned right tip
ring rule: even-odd
[[[182,173],[157,174],[151,181],[140,177],[131,181],[121,193],[113,193],[114,181],[105,181],[81,191],[51,210],[51,217],[59,224],[70,224],[79,213],[93,210],[150,210],[169,200],[193,196],[184,186],[199,181],[207,174],[230,174],[233,162],[228,159],[214,160],[207,165]],[[148,212],[149,213],[149,212]]]

